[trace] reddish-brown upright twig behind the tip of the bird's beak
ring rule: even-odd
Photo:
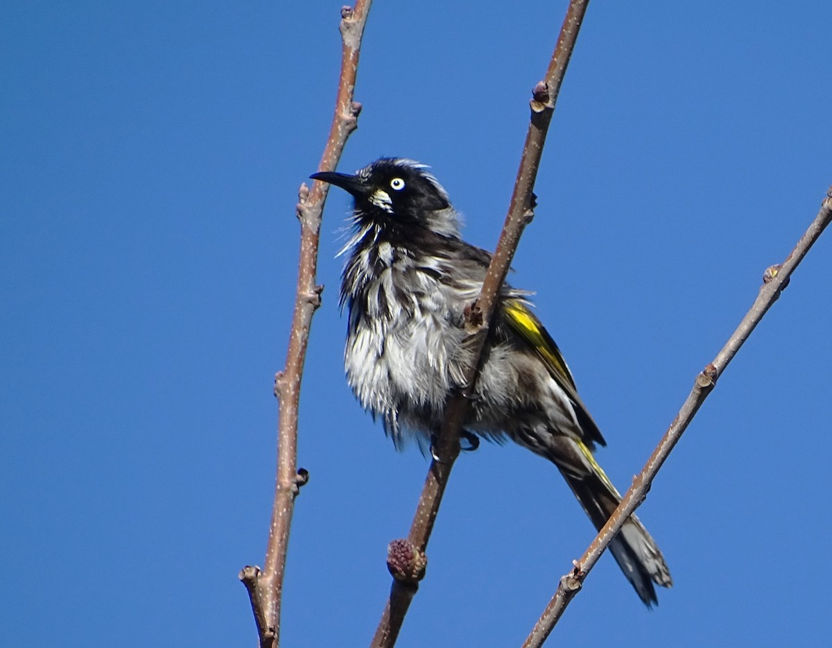
[[[355,77],[358,72],[361,37],[372,0],[358,0],[355,7],[341,9],[341,73],[335,111],[329,137],[321,156],[318,170],[334,171],[344,151],[344,144],[357,127],[361,106],[354,102]],[[298,285],[295,293],[295,312],[286,351],[286,365],[275,376],[275,396],[280,399],[277,433],[277,478],[275,502],[266,546],[265,566],[247,566],[240,571],[249,592],[251,609],[257,623],[261,648],[277,648],[280,645],[280,604],[283,594],[283,576],[286,549],[295,497],[309,478],[304,469],[297,469],[298,404],[300,380],[303,376],[306,346],[315,310],[320,306],[322,286],[315,283],[318,266],[318,242],[321,217],[324,212],[329,185],[314,182],[312,189],[303,183],[298,192],[296,207],[300,220],[300,260]]]

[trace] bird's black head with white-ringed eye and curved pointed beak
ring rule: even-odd
[[[423,164],[401,157],[381,157],[350,176],[320,172],[310,177],[329,182],[355,199],[355,222],[405,233],[425,228],[458,237],[458,215],[448,194]]]

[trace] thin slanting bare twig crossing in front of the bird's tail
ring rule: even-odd
[[[722,347],[722,350],[716,355],[716,358],[696,376],[691,394],[681,406],[681,410],[679,410],[670,428],[666,431],[665,436],[661,438],[659,445],[656,446],[656,450],[653,451],[644,468],[633,479],[630,490],[626,491],[621,504],[612,513],[607,524],[604,525],[601,531],[598,531],[598,535],[587,548],[587,551],[584,551],[583,556],[575,561],[574,569],[561,578],[555,595],[552,596],[552,600],[549,601],[546,610],[543,611],[542,616],[537,620],[532,632],[523,644],[523,648],[539,648],[539,646],[542,646],[543,641],[546,641],[547,636],[552,632],[552,628],[561,618],[566,606],[581,589],[584,579],[587,577],[589,571],[592,570],[592,567],[595,566],[607,548],[607,545],[609,545],[617,532],[621,530],[626,519],[646,498],[647,492],[650,491],[652,481],[656,477],[656,473],[658,473],[667,456],[670,455],[673,447],[676,446],[682,433],[696,415],[696,411],[699,410],[708,394],[713,391],[717,379],[726,370],[726,366],[728,366],[728,363],[736,355],[736,352],[740,350],[740,346],[748,339],[751,331],[754,331],[755,326],[757,326],[777,298],[780,297],[780,292],[782,292],[789,282],[791,273],[795,272],[795,268],[803,260],[803,257],[806,256],[806,253],[809,252],[810,247],[817,241],[818,237],[820,237],[820,233],[830,224],[830,221],[832,221],[832,187],[827,192],[826,198],[820,206],[820,212],[815,217],[815,221],[812,222],[805,234],[800,237],[800,241],[797,242],[795,249],[792,250],[790,255],[786,257],[785,262],[782,265],[772,266],[766,269],[763,276],[763,286],[760,287],[760,293],[757,295],[750,310],[745,313],[745,317],[742,318],[740,326],[737,326],[736,331],[728,338],[726,345]]]

